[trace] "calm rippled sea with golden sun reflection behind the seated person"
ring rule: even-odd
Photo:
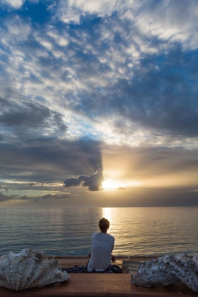
[[[198,254],[197,214],[198,207],[0,209],[0,255],[87,255],[101,217],[110,221],[115,255]]]

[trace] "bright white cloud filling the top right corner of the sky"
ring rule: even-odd
[[[162,40],[180,41],[184,48],[198,46],[197,1],[161,1],[152,8],[143,7],[136,16],[136,26],[142,33]],[[190,43],[190,44],[189,44]]]

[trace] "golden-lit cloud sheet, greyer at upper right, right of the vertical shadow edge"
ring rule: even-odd
[[[133,192],[134,184],[136,187],[138,183],[142,189],[147,186],[196,188],[197,153],[197,148],[104,145],[102,164],[107,178],[123,181],[127,188],[124,192]]]

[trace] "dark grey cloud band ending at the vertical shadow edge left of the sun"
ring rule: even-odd
[[[101,167],[101,143],[87,139],[67,140],[42,136],[16,141],[16,137],[10,138],[9,134],[9,142],[2,143],[0,154],[2,178],[26,181],[28,184],[32,181],[60,183],[64,176],[88,175]],[[28,184],[23,187],[28,187]]]

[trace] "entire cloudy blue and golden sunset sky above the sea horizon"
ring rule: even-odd
[[[197,0],[0,2],[0,207],[198,206]]]

